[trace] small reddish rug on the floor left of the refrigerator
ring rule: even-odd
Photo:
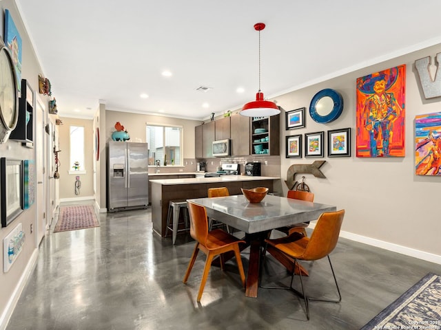
[[[90,205],[63,206],[54,232],[67,232],[85,228],[99,227],[94,208]]]

